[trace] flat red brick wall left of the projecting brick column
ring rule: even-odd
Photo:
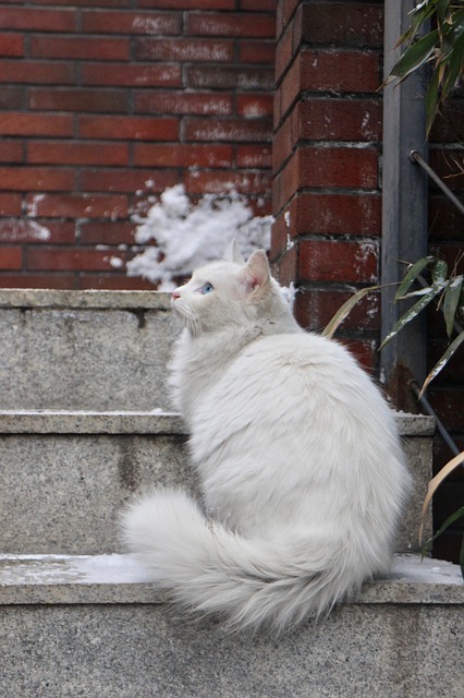
[[[131,218],[181,182],[270,213],[274,12],[1,2],[0,287],[149,288],[125,275]]]

